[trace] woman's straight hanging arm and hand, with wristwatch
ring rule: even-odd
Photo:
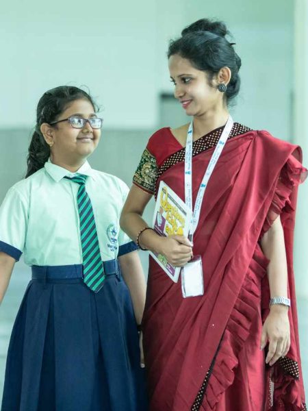
[[[270,260],[268,264],[268,282],[270,297],[287,297],[287,258],[285,255],[285,240],[280,217],[261,239],[261,248]],[[292,301],[291,301],[292,303]],[[274,364],[290,349],[290,323],[287,306],[275,304],[270,307],[261,337],[261,349],[269,341],[266,363]]]

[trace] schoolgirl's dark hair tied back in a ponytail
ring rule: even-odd
[[[56,121],[70,103],[79,99],[90,101],[95,112],[97,111],[97,105],[94,103],[92,97],[90,97],[86,91],[81,90],[81,88],[74,86],[59,86],[52,88],[42,95],[40,101],[38,101],[38,108],[36,109],[36,127],[29,145],[26,178],[39,169],[42,169],[45,162],[49,159],[50,147],[40,132],[42,123],[52,123],[53,121]]]

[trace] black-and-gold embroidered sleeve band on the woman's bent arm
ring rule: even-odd
[[[149,151],[149,148],[146,147],[142,153],[136,173],[133,176],[133,184],[153,195],[155,192],[157,172],[158,167],[156,158],[151,151]]]

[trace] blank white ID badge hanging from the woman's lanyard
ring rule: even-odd
[[[194,256],[181,269],[182,294],[184,298],[203,295],[203,271],[201,256]]]

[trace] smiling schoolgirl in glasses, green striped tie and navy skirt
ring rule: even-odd
[[[137,327],[145,282],[136,246],[119,228],[128,188],[86,161],[101,125],[84,90],[45,92],[27,178],[1,206],[1,300],[22,253],[32,270],[10,340],[3,411],[146,410]]]

